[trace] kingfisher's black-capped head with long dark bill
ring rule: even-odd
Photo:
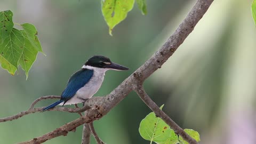
[[[107,57],[101,55],[94,55],[89,60],[87,60],[82,68],[94,69],[94,68],[102,68],[102,69],[112,69],[112,70],[128,70],[124,66],[118,65],[117,63],[111,62],[111,60]]]

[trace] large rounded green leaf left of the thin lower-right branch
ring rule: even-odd
[[[164,106],[164,105],[163,105]],[[162,109],[163,106],[160,108]],[[161,118],[156,117],[155,113],[149,113],[142,119],[139,127],[140,135],[143,139],[156,143],[179,143],[177,134]]]

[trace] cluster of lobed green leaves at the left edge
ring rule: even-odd
[[[30,23],[15,23],[23,29],[14,28],[12,17],[10,10],[0,12],[0,63],[11,75],[21,66],[28,77],[37,53],[43,53],[42,47],[36,27]]]

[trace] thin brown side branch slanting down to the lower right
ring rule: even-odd
[[[181,129],[181,127],[176,124],[169,116],[167,116],[164,111],[162,111],[157,105],[156,103],[150,99],[150,97],[148,96],[148,94],[145,92],[145,90],[143,89],[142,85],[138,85],[137,89],[135,89],[135,92],[137,92],[137,94],[139,95],[139,97],[142,99],[143,102],[146,103],[146,105],[152,110],[154,111],[154,113],[156,114],[157,117],[160,117],[161,119],[163,119],[163,121],[169,125],[175,133],[179,134],[183,139],[185,139],[187,142],[191,143],[191,144],[196,144],[196,140],[194,140],[193,138],[191,138],[185,131],[183,131],[183,129]]]

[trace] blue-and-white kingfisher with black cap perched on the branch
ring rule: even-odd
[[[84,103],[90,99],[99,89],[107,70],[128,70],[124,66],[111,62],[102,55],[94,55],[85,62],[82,69],[76,71],[68,80],[66,89],[62,92],[59,101],[43,108],[43,111],[54,108],[57,105],[71,105]]]

